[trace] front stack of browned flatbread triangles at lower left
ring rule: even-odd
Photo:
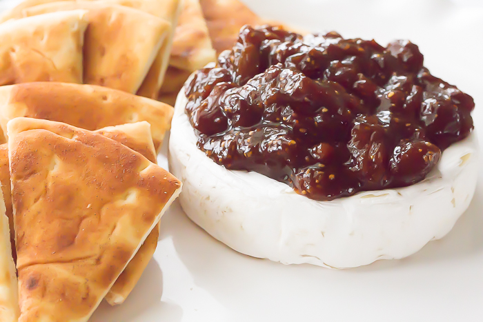
[[[88,321],[135,287],[181,190],[153,140],[172,108],[97,85],[0,92],[0,321]]]

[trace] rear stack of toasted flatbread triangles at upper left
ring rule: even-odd
[[[7,34],[28,34],[29,41],[6,37],[12,45],[5,49],[0,64],[7,61],[10,69],[17,70],[26,63],[32,65],[30,56],[36,54],[46,66],[37,67],[36,74],[27,70],[0,79],[0,85],[25,81],[87,83],[155,98],[168,67],[180,6],[179,0],[27,0],[3,14],[0,39],[5,26]],[[73,12],[77,23],[70,17]],[[57,21],[50,21],[54,18]],[[63,29],[57,30],[59,26]],[[65,48],[52,48],[52,43]],[[51,76],[52,69],[74,75]]]

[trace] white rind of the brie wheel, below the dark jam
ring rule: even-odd
[[[400,259],[446,235],[468,208],[477,180],[477,139],[446,149],[424,181],[406,188],[314,201],[256,172],[217,165],[197,148],[181,91],[169,142],[179,201],[197,225],[243,254],[284,264],[354,268]]]

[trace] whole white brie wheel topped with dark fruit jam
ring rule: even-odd
[[[181,207],[284,264],[355,268],[444,237],[475,191],[474,103],[422,62],[408,41],[242,29],[177,97]]]

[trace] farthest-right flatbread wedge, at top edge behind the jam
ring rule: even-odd
[[[263,21],[239,0],[199,0],[213,48],[220,52],[231,49],[244,25],[256,26]]]

